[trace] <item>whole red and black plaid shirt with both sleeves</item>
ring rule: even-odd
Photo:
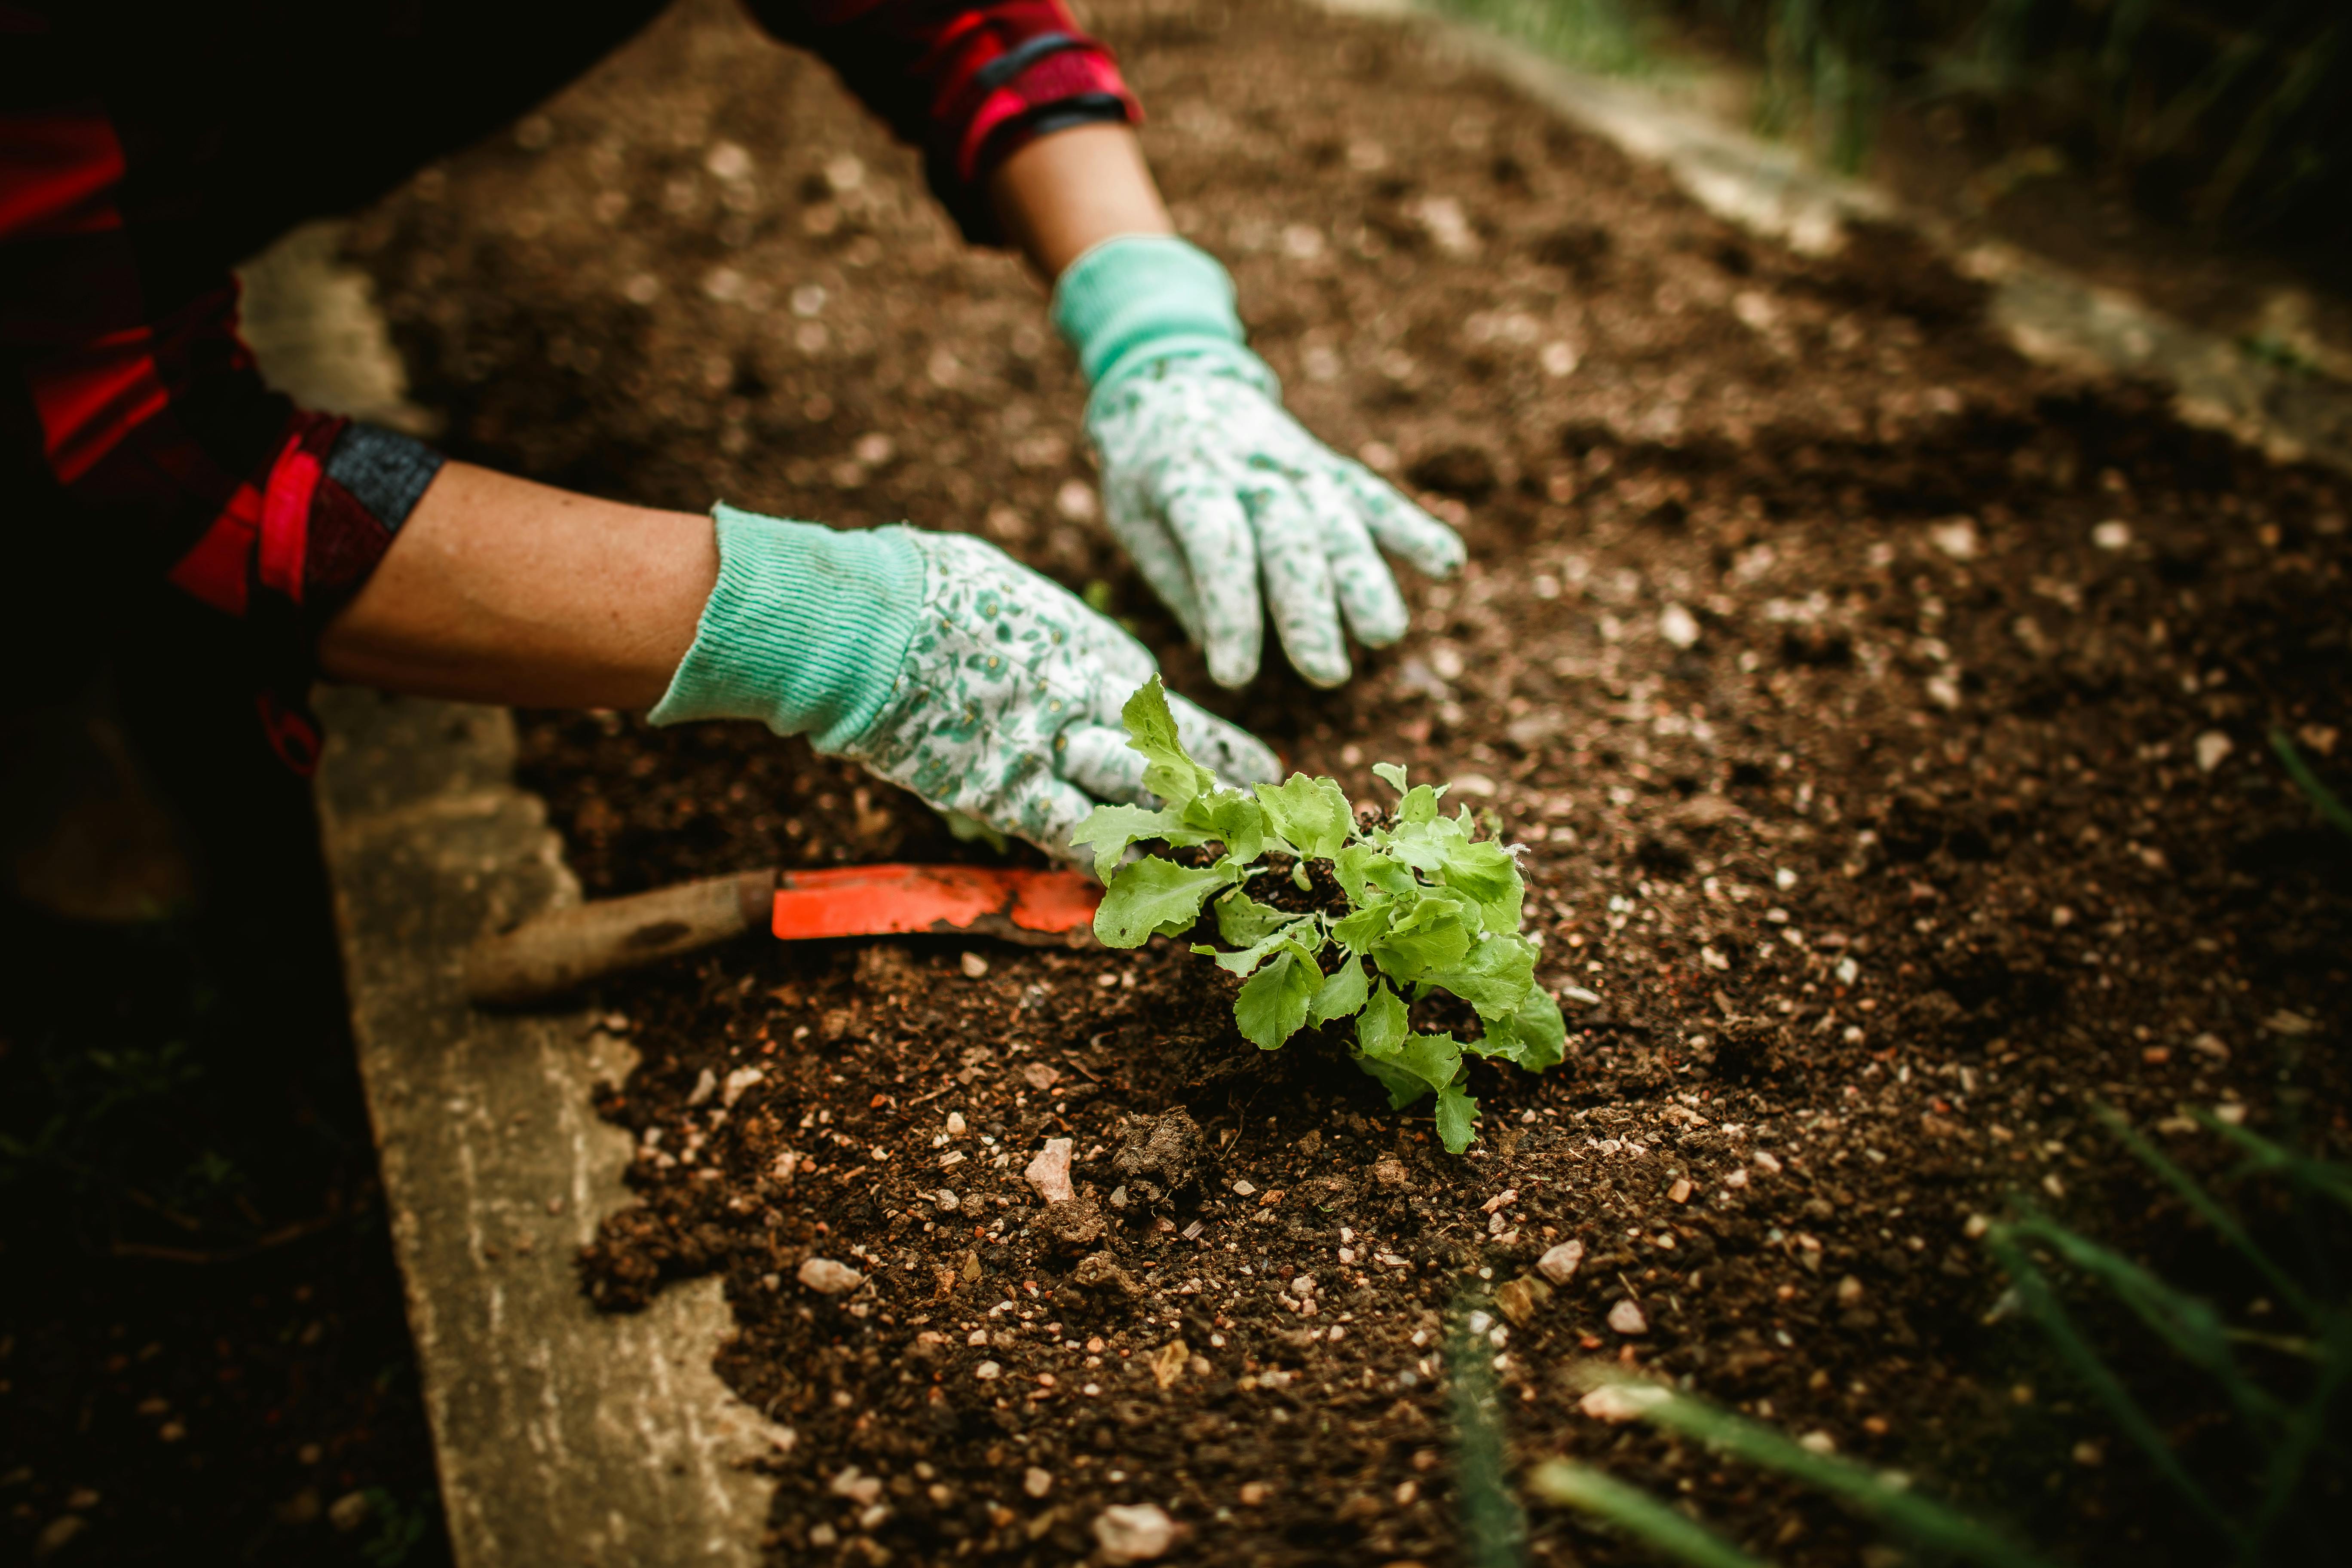
[[[1014,148],[1138,118],[1061,0],[746,5],[924,148],[976,242],[997,240],[985,181]],[[230,266],[496,129],[661,9],[0,0],[0,505],[28,538],[9,541],[16,562],[162,578],[233,618],[261,722],[308,771],[318,630],[440,456],[270,393],[238,339]]]

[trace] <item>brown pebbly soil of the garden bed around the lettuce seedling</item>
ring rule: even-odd
[[[1169,1561],[1451,1561],[1446,1345],[1477,1312],[1515,1465],[1604,1462],[1778,1561],[1870,1535],[1578,1413],[1576,1368],[1686,1380],[2056,1554],[2206,1561],[2032,1331],[1987,1319],[1966,1227],[2027,1194],[2267,1312],[2093,1105],[2194,1168],[2218,1154],[2180,1105],[2340,1147],[2352,846],[2265,731],[2347,783],[2347,482],[2025,364],[1900,233],[1757,242],[1388,26],[1089,16],[1291,409],[1470,541],[1343,691],[1209,686],[1089,527],[1042,292],[729,9],[428,172],[355,254],[461,456],[983,531],[1355,799],[1388,799],[1374,762],[1454,780],[1529,846],[1571,1058],[1477,1065],[1451,1159],[1336,1041],[1249,1048],[1232,983],[1169,943],[746,943],[612,985],[642,1065],[602,1112],[642,1201],[583,1284],[628,1309],[727,1279],[717,1366],[795,1432],[764,1542],[1061,1563],[1152,1502]],[[748,726],[529,715],[527,778],[590,893],[981,853]],[[1073,1206],[1023,1182],[1051,1138]],[[1576,1276],[1505,1312],[1566,1239]],[[866,1279],[814,1291],[811,1258]],[[1628,1300],[1642,1333],[1609,1326]],[[2107,1342],[2241,1486],[2197,1385]],[[1529,1537],[1642,1561],[1559,1512]]]

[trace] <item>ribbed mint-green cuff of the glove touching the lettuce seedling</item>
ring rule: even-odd
[[[922,552],[903,527],[837,534],[710,508],[720,581],[647,715],[760,719],[840,750],[882,710],[922,614]]]

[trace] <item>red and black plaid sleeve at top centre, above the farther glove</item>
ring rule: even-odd
[[[1110,49],[1061,0],[746,0],[776,38],[816,49],[901,141],[964,237],[1000,244],[988,174],[1028,141],[1089,120],[1143,120]]]

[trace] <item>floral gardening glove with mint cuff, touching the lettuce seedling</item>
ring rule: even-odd
[[[1150,799],[1120,705],[1152,656],[1058,583],[964,534],[835,534],[724,503],[710,515],[720,581],[654,724],[807,733],[934,811],[1063,858],[1096,802]],[[1279,776],[1247,731],[1183,698],[1169,708],[1218,776]]]

